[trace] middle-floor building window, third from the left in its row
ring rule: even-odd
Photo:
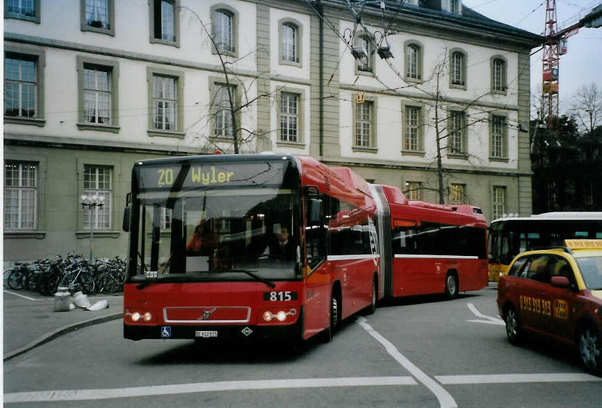
[[[153,75],[153,128],[177,130],[177,78]]]

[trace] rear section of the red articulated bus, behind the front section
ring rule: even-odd
[[[384,297],[487,286],[487,222],[479,207],[408,201],[397,187],[371,185],[384,214],[380,254]],[[389,262],[392,264],[389,266]]]

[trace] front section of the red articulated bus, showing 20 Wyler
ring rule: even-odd
[[[308,157],[137,162],[124,338],[330,341],[375,308],[376,219],[365,180]]]

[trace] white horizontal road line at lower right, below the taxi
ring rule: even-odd
[[[490,374],[490,375],[436,375],[441,384],[510,384],[523,382],[587,382],[599,381],[586,373],[549,373],[549,374]]]

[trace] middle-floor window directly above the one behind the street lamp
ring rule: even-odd
[[[111,124],[111,69],[83,65],[83,121]]]

